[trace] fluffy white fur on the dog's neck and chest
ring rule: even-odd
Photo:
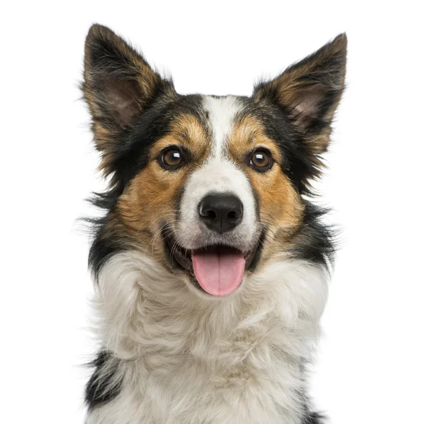
[[[113,256],[98,276],[97,327],[121,391],[88,424],[302,423],[327,270],[284,255],[213,300],[148,256]]]

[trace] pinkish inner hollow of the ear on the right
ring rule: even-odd
[[[298,126],[305,129],[317,117],[318,106],[324,96],[325,88],[322,84],[313,84],[295,91],[290,113]]]

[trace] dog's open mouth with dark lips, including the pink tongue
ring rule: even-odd
[[[247,252],[220,244],[186,249],[166,233],[164,240],[173,266],[187,271],[193,286],[211,296],[228,296],[236,291],[245,270],[252,268],[260,256],[260,240]]]

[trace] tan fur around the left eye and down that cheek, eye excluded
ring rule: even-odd
[[[190,151],[191,163],[177,171],[163,169],[158,155],[168,146],[183,146]],[[149,163],[133,178],[119,198],[118,221],[136,246],[145,249],[158,261],[164,261],[161,226],[175,227],[179,207],[177,199],[188,175],[208,157],[210,146],[203,125],[195,116],[183,115],[175,120],[168,134],[151,148]]]

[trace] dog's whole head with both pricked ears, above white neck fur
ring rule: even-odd
[[[338,36],[249,98],[182,96],[121,38],[93,26],[83,93],[111,176],[97,201],[108,213],[91,251],[95,271],[134,249],[213,298],[237,291],[275,253],[316,261],[302,195],[328,145],[345,56]]]

